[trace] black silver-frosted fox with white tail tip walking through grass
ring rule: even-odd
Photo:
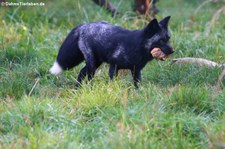
[[[164,53],[160,60],[174,52],[169,45],[169,20],[170,16],[160,22],[153,19],[141,30],[127,30],[104,21],[81,24],[63,42],[50,72],[57,75],[85,60],[86,65],[77,78],[80,84],[86,76],[91,80],[96,69],[106,62],[110,64],[111,80],[119,69],[129,69],[138,87],[142,68],[154,58],[151,54],[154,48]]]

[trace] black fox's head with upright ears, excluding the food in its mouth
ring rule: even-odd
[[[153,19],[145,28],[145,49],[151,53],[154,48],[159,48],[163,52],[164,56],[160,57],[160,60],[164,60],[171,55],[174,51],[169,44],[170,33],[168,31],[168,23],[170,16],[165,17],[160,22],[157,19]]]

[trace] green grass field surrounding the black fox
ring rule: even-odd
[[[0,148],[225,148],[225,90],[214,89],[222,68],[170,65],[178,57],[225,63],[224,14],[205,35],[222,0],[196,15],[203,0],[157,3],[158,19],[172,16],[175,53],[147,64],[139,89],[129,72],[110,82],[107,64],[78,90],[74,82],[84,64],[57,77],[48,73],[74,26],[106,20],[137,29],[148,23],[130,0],[112,2],[120,11],[115,18],[91,0],[0,6]]]

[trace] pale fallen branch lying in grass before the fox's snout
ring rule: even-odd
[[[216,62],[203,59],[203,58],[193,58],[193,57],[184,57],[184,58],[176,58],[173,59],[171,64],[174,63],[189,63],[189,64],[197,64],[199,66],[207,66],[207,67],[223,67],[225,64],[218,64]]]

